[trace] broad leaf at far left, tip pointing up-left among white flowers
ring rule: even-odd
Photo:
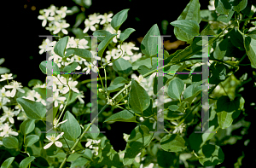
[[[29,119],[44,119],[46,108],[41,102],[31,101],[25,98],[17,98],[16,101],[23,107]]]

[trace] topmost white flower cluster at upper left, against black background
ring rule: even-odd
[[[67,14],[72,13],[71,10],[67,10],[67,7],[61,7],[58,9],[55,5],[51,5],[48,9],[42,9],[39,11],[38,19],[43,20],[42,26],[46,26],[49,22],[49,26],[45,27],[46,30],[57,34],[63,32],[67,34],[66,28],[70,25],[64,20]]]

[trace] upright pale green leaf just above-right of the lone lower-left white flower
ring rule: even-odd
[[[81,128],[77,119],[73,117],[73,114],[67,111],[63,120],[67,121],[61,124],[61,132],[64,132],[64,137],[71,141],[76,141],[81,134]]]

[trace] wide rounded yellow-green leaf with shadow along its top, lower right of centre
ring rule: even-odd
[[[185,147],[185,141],[182,136],[178,134],[168,134],[160,141],[160,147],[167,152],[181,152]]]

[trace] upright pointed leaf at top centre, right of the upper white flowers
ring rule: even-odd
[[[124,9],[119,11],[119,13],[115,14],[110,22],[111,26],[114,30],[118,31],[119,27],[125,22],[127,19],[127,13],[130,9]]]

